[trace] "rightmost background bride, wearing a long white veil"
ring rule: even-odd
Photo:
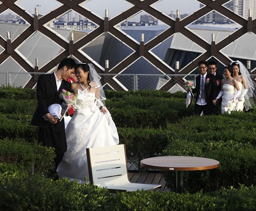
[[[240,96],[237,97],[236,109],[243,111],[243,106],[245,106],[247,111],[252,107],[249,98],[254,95],[255,83],[251,80],[250,73],[241,61],[234,61],[231,65],[233,68],[233,78],[236,79],[241,90]],[[236,92],[237,90],[235,89]]]

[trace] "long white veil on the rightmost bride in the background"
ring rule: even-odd
[[[248,92],[245,94],[245,102],[243,103],[243,105],[245,106],[245,110],[249,110],[252,107],[251,102],[253,102],[253,101],[250,102],[249,98],[253,97],[253,99],[254,99],[256,97],[255,93],[253,92],[256,87],[255,82],[253,80],[251,80],[249,71],[247,70],[245,65],[243,65],[241,63],[241,61],[233,61],[232,63],[239,64],[240,72],[241,72],[242,76],[245,77],[246,84],[248,86]],[[230,63],[230,65],[232,63]]]

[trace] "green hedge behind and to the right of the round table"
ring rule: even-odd
[[[255,115],[183,118],[168,125],[168,144],[163,155],[198,156],[216,159],[220,167],[184,173],[184,189],[212,192],[221,187],[256,185]],[[168,187],[175,189],[176,173],[164,172]]]

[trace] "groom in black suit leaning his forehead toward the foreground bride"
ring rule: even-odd
[[[65,124],[64,119],[57,121],[53,115],[49,114],[48,106],[64,102],[60,98],[62,89],[71,92],[71,84],[66,80],[75,73],[75,67],[75,60],[71,58],[63,59],[55,73],[40,75],[36,86],[38,107],[33,115],[31,125],[39,127],[39,142],[42,142],[43,146],[55,148],[56,169],[63,159],[65,151],[67,151]],[[48,121],[44,119],[45,117]],[[56,169],[51,172],[55,179],[57,179]]]

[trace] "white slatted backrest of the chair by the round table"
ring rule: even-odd
[[[128,180],[125,144],[86,148],[91,183],[106,187]]]

